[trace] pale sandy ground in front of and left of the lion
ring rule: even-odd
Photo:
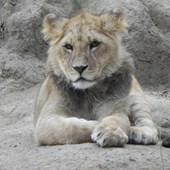
[[[36,93],[33,87],[1,96],[0,170],[170,170],[170,149],[161,142],[105,149],[93,143],[37,146],[32,124]]]

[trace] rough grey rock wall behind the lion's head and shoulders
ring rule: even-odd
[[[1,0],[0,90],[27,88],[45,76],[47,44],[42,18],[49,12],[71,16],[84,9],[94,14],[120,6],[118,0]],[[126,0],[122,6],[129,23],[123,40],[145,87],[170,87],[170,1]]]

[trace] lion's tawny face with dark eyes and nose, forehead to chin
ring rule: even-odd
[[[120,16],[110,19],[107,15],[99,17],[82,13],[61,21],[59,27],[54,16],[48,15],[44,33],[51,41],[48,58],[50,69],[57,76],[64,76],[78,89],[90,88],[113,74],[121,65],[118,32],[122,28],[118,25],[114,27],[118,19]],[[48,30],[51,35],[47,35],[45,30],[47,24],[51,24],[51,30]]]

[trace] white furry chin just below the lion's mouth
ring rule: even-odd
[[[96,84],[95,81],[86,81],[86,80],[79,80],[73,82],[73,87],[76,89],[88,89]]]

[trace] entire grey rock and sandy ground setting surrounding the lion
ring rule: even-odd
[[[48,48],[41,35],[43,17],[50,12],[70,17],[81,8],[101,14],[117,6],[125,10],[129,29],[123,41],[149,94],[153,119],[163,135],[170,133],[170,1],[122,1],[0,0],[0,170],[170,169],[170,150],[160,144],[38,147],[33,140],[33,103]]]

